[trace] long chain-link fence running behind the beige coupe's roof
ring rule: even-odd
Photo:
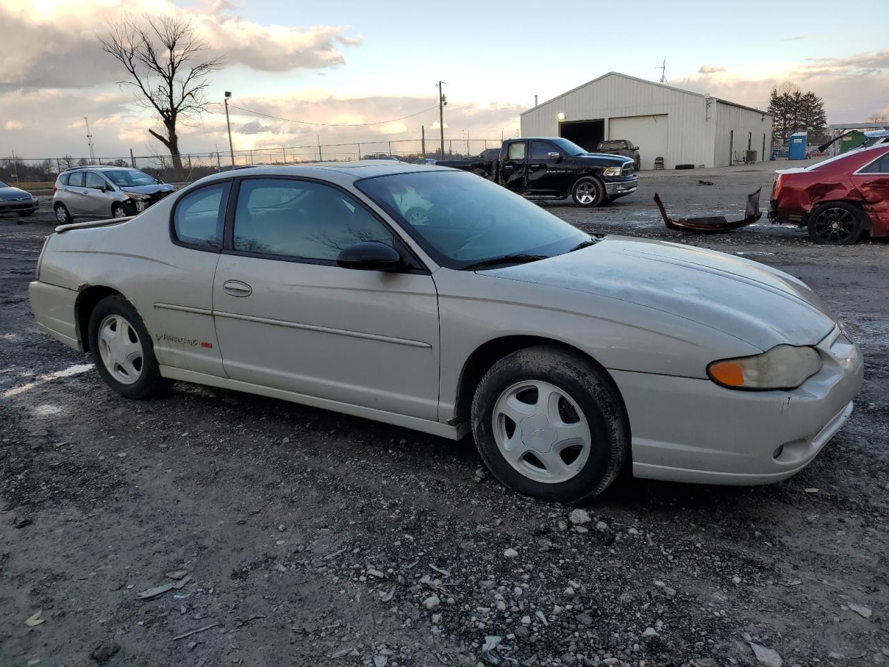
[[[52,187],[52,182],[66,169],[76,166],[129,166],[168,182],[188,182],[235,166],[297,165],[308,162],[353,162],[394,156],[404,162],[420,157],[459,160],[475,157],[485,149],[499,148],[500,139],[445,139],[442,153],[440,139],[399,139],[393,141],[354,141],[316,144],[279,149],[236,150],[213,153],[182,153],[180,156],[136,156],[130,151],[123,157],[2,157],[0,181],[32,188]]]

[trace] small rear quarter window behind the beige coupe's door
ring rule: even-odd
[[[229,181],[213,183],[180,198],[172,213],[174,240],[199,250],[219,250],[230,187]]]

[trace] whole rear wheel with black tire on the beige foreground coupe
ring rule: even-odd
[[[120,294],[105,297],[92,309],[88,335],[96,370],[121,396],[153,398],[169,386],[161,377],[148,329]]]

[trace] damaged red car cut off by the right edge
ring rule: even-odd
[[[769,220],[805,225],[815,243],[889,236],[889,145],[779,171]]]

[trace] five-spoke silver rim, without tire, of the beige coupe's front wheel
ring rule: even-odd
[[[503,457],[522,475],[557,484],[580,472],[592,445],[577,402],[556,385],[517,382],[493,408],[493,435]]]

